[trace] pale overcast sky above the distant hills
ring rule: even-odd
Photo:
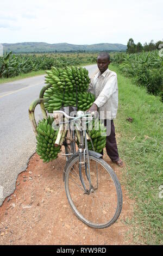
[[[0,0],[0,43],[156,42],[162,13],[162,0]]]

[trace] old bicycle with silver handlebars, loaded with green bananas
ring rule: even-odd
[[[114,170],[95,151],[88,150],[87,131],[83,129],[90,114],[77,112],[72,117],[65,111],[61,113],[68,121],[64,139],[66,165],[64,169],[65,191],[74,214],[92,228],[107,228],[118,219],[122,210],[122,190]],[[79,130],[72,130],[70,124],[79,121]],[[68,137],[69,136],[69,137]],[[78,151],[76,149],[79,139]],[[68,142],[69,141],[69,142]]]

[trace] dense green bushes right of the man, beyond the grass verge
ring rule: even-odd
[[[111,60],[118,65],[121,74],[133,77],[134,83],[146,87],[148,93],[160,95],[163,100],[163,57],[158,50],[115,53]]]

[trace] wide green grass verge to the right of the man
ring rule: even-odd
[[[158,97],[147,94],[124,77],[116,65],[119,106],[115,120],[116,132],[121,134],[119,154],[126,163],[123,184],[135,200],[130,220],[134,241],[160,245],[163,241],[163,199],[159,186],[163,185],[163,104]],[[129,123],[126,118],[133,118]],[[148,137],[146,137],[148,136]]]

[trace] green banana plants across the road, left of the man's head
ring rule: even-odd
[[[40,75],[40,71],[49,70],[51,66],[62,68],[70,65],[87,65],[96,62],[97,53],[52,53],[52,54],[12,54],[5,53],[0,57],[0,83],[8,82],[4,78],[22,74]],[[42,72],[41,72],[42,74]],[[20,77],[18,77],[20,79]],[[12,79],[13,81],[13,79]]]

